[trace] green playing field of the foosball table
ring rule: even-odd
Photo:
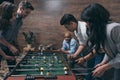
[[[19,64],[12,75],[65,75],[69,68],[65,62],[63,54],[30,52]]]

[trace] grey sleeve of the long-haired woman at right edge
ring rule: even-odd
[[[109,61],[114,68],[120,68],[120,26],[116,26],[111,31],[111,38],[117,48],[116,56]]]

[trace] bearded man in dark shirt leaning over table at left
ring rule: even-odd
[[[34,10],[33,6],[31,5],[30,2],[27,1],[21,1],[19,6],[18,6],[18,10],[17,10],[17,16],[16,16],[16,20],[13,22],[12,26],[9,28],[9,30],[3,32],[3,42],[9,42],[10,44],[14,43],[15,38],[17,37],[18,31],[20,30],[23,22],[22,19],[25,18],[26,16],[28,16],[31,11]],[[6,44],[7,46],[7,44]],[[15,52],[11,52],[10,49],[8,49],[5,46],[1,46],[2,50],[9,56],[15,56],[15,53],[17,52],[17,50]],[[16,60],[7,60],[7,64],[8,65],[15,65],[16,64]],[[9,68],[10,70],[12,68]]]

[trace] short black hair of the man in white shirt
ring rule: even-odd
[[[76,18],[72,14],[64,14],[64,16],[60,20],[60,24],[61,25],[70,24],[71,21],[77,23]]]

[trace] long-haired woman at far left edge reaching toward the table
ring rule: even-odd
[[[14,46],[9,44],[7,41],[3,41],[4,38],[2,36],[2,33],[6,32],[12,25],[13,21],[16,20],[16,11],[17,7],[10,2],[4,1],[2,4],[0,4],[0,45],[5,45],[13,52],[17,51],[17,49],[15,49]],[[0,46],[0,62],[2,57],[6,60],[15,59],[14,57],[5,54]]]

